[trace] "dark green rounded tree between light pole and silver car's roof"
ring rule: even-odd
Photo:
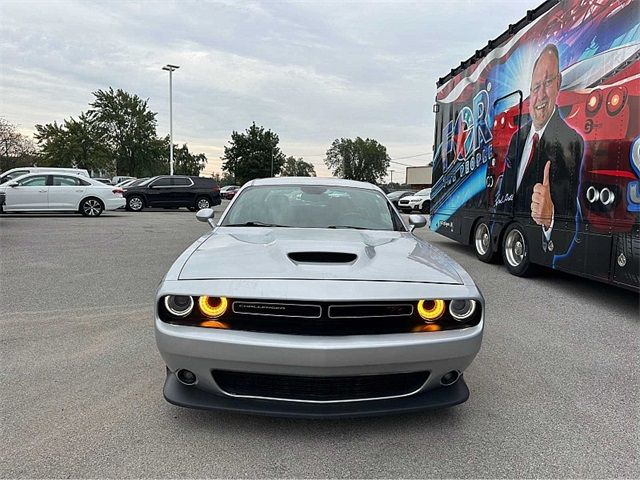
[[[224,147],[222,170],[235,178],[235,183],[243,183],[254,178],[280,173],[284,165],[284,154],[278,147],[280,139],[271,130],[257,127],[255,122],[245,133],[234,131],[228,147]]]

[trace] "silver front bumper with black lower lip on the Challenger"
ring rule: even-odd
[[[480,349],[483,322],[474,327],[440,332],[319,337],[277,335],[170,325],[155,319],[158,349],[167,365],[165,398],[193,408],[304,417],[378,415],[451,406],[469,391],[460,376],[451,386],[443,375],[462,373]],[[197,383],[180,383],[186,369]],[[417,391],[396,397],[301,401],[233,395],[214,380],[213,370],[327,377],[428,372]]]

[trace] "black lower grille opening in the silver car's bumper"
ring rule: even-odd
[[[416,392],[429,372],[349,377],[303,377],[214,370],[216,384],[226,393],[308,402],[335,402],[399,397]]]

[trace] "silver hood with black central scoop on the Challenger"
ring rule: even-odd
[[[179,279],[225,278],[464,283],[453,260],[409,232],[311,228],[218,227]]]

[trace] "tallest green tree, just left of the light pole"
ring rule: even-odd
[[[104,132],[115,173],[136,177],[165,173],[163,164],[168,162],[160,152],[164,141],[156,137],[156,113],[148,109],[148,101],[112,87],[93,95],[96,99],[88,114]]]

